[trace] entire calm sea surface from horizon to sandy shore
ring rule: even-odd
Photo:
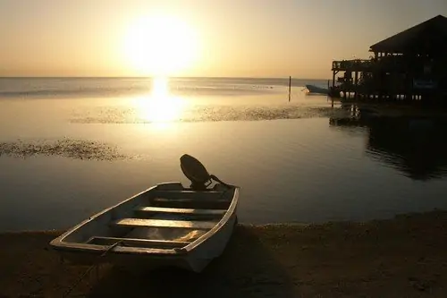
[[[189,153],[241,187],[240,222],[447,209],[440,119],[375,118],[282,79],[0,80],[0,230],[67,228]]]

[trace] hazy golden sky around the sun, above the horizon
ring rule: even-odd
[[[193,44],[195,59],[170,74],[328,78],[333,59],[367,58],[370,45],[438,14],[447,0],[0,0],[0,75],[139,75],[123,48],[132,24],[156,15],[194,38],[164,37],[169,53],[141,61],[148,75]]]

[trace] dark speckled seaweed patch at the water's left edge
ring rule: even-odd
[[[0,156],[29,158],[35,155],[61,156],[86,160],[119,160],[129,157],[119,153],[112,145],[92,140],[62,140],[0,142]]]

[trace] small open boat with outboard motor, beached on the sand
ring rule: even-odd
[[[50,246],[76,264],[201,272],[232,236],[240,188],[209,175],[190,155],[181,157],[181,170],[189,187],[156,184],[73,226]]]

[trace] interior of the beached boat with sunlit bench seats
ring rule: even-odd
[[[77,226],[63,243],[175,249],[211,230],[232,203],[234,189],[216,184],[193,192],[166,183],[125,200]]]

